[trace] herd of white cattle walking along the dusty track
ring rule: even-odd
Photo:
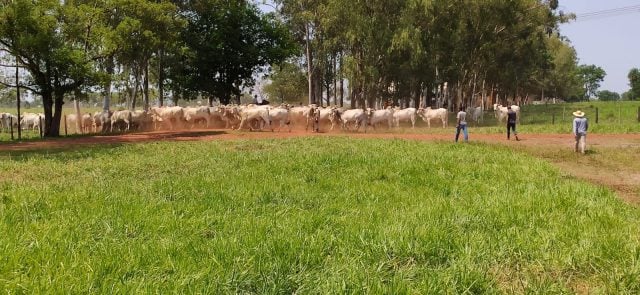
[[[518,106],[512,109],[520,113]],[[467,118],[480,121],[482,109],[469,108]],[[494,105],[498,122],[507,117],[507,108]],[[114,112],[96,112],[94,114],[69,114],[64,117],[66,128],[76,133],[122,132],[130,130],[179,130],[193,128],[227,128],[233,130],[282,130],[291,131],[301,128],[311,131],[329,131],[339,126],[342,130],[366,132],[367,127],[399,127],[400,123],[410,123],[415,128],[416,118],[420,117],[431,127],[432,120],[445,128],[448,126],[447,109],[437,108],[399,108],[384,109],[345,109],[339,107],[321,107],[316,105],[280,106],[260,105],[222,105],[216,107],[154,107],[149,111],[120,110]],[[21,118],[23,129],[38,130],[44,122],[41,113],[24,113]],[[18,126],[17,116],[0,113],[0,127],[3,130]]]

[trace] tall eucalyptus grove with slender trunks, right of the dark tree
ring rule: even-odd
[[[302,48],[290,61],[297,69],[287,66],[272,77],[276,85],[267,92],[280,99],[305,77],[298,100],[342,105],[348,97],[352,107],[389,99],[450,108],[507,99],[587,100],[598,95],[606,75],[578,64],[558,31],[573,15],[559,11],[558,1],[273,3]]]

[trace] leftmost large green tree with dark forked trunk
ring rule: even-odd
[[[72,1],[0,4],[0,46],[29,72],[30,83],[21,87],[42,96],[45,136],[60,134],[65,95],[95,78],[100,16],[96,6]]]

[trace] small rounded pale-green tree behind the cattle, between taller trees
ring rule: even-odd
[[[285,62],[273,68],[269,76],[271,83],[264,87],[271,102],[288,102],[292,104],[308,101],[306,93],[307,79],[300,68]]]

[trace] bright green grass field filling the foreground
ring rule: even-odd
[[[5,293],[638,294],[639,227],[609,190],[483,144],[0,153]]]

